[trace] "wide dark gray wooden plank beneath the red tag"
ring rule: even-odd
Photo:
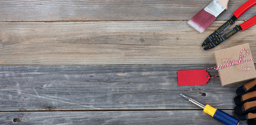
[[[0,109],[200,109],[182,92],[216,108],[233,109],[243,83],[178,86],[177,70],[213,65],[0,66]],[[211,76],[216,70],[208,70]],[[202,96],[205,93],[206,96]]]

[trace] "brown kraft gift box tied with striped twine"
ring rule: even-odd
[[[249,46],[249,43],[237,45],[234,47],[229,47],[225,49],[221,49],[219,51],[214,52],[214,57],[217,66],[230,64],[230,62],[224,62],[223,60],[232,59],[234,61],[238,61],[240,59],[240,52],[243,48],[247,48],[249,54],[242,58],[242,60],[251,59],[252,53]],[[244,50],[242,55],[246,55],[247,51]],[[250,79],[256,78],[256,71],[254,67],[253,60],[240,63],[242,67],[250,68],[250,69],[243,69],[239,65],[235,64],[232,66],[228,66],[225,68],[218,69],[218,74],[220,75],[220,80],[222,86],[234,84]]]

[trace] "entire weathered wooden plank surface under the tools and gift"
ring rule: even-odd
[[[256,26],[202,49],[247,0],[230,0],[198,33],[187,21],[211,1],[0,1],[0,123],[220,123],[180,92],[236,117],[235,90],[246,82],[177,86],[177,70],[214,66],[216,50],[250,43],[256,56]]]

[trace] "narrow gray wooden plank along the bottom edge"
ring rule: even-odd
[[[234,115],[233,110],[223,110]],[[14,122],[15,121],[17,122]],[[202,110],[2,112],[1,124],[221,124]],[[239,125],[246,124],[240,121]]]

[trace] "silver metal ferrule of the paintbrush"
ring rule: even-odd
[[[204,8],[204,10],[217,18],[219,15],[221,15],[225,8],[220,2],[213,0],[208,6]]]

